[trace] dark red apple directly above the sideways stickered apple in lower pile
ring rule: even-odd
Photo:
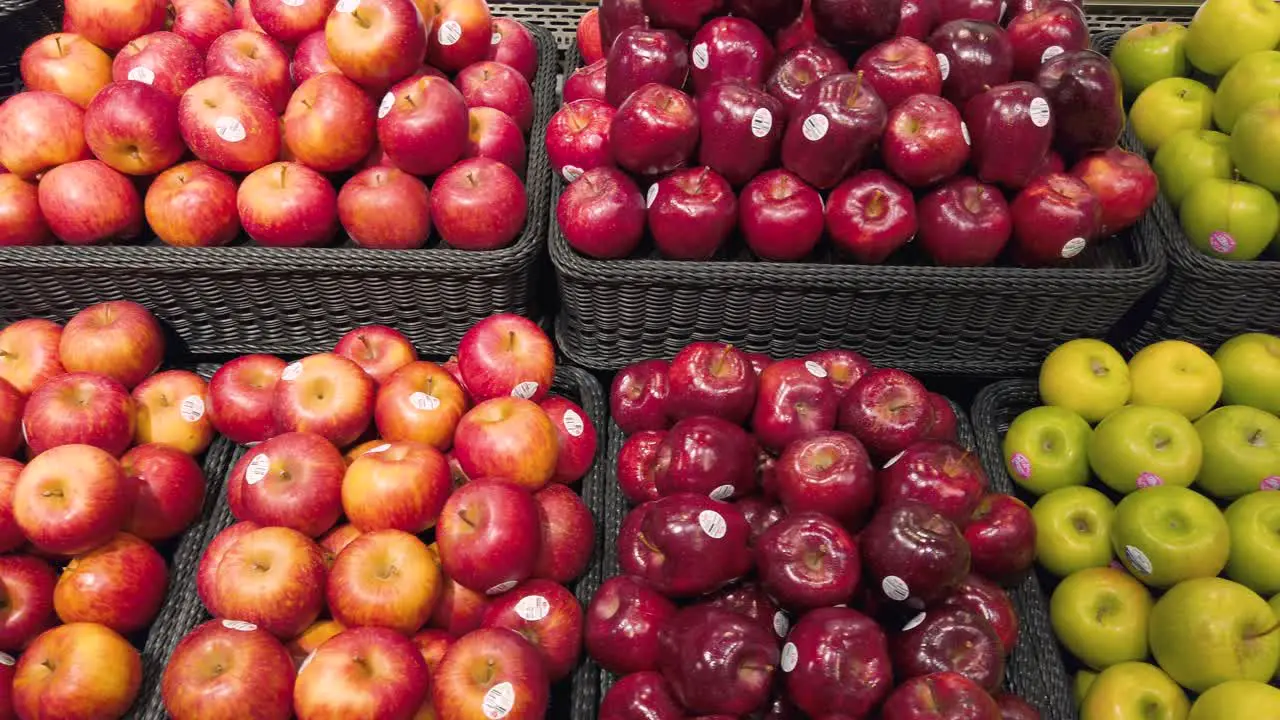
[[[659,496],[744,497],[755,489],[755,443],[741,427],[712,415],[680,420],[654,459]]]

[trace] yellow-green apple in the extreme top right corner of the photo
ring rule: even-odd
[[[1280,44],[1280,6],[1274,0],[1207,0],[1187,28],[1187,59],[1211,76],[1240,58]]]

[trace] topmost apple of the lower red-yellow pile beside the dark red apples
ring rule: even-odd
[[[462,336],[458,369],[476,400],[512,396],[539,402],[552,387],[556,350],[532,320],[492,315]]]

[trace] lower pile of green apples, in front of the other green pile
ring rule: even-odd
[[[1039,393],[1004,459],[1082,720],[1280,717],[1280,337],[1076,340]]]

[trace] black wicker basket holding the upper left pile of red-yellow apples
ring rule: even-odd
[[[45,32],[56,29],[55,20],[46,22]],[[552,35],[530,31],[539,65],[525,181],[529,219],[509,247],[454,250],[435,236],[422,250],[271,249],[247,238],[228,247],[169,247],[150,238],[128,246],[4,247],[0,320],[70,315],[128,297],[197,355],[302,355],[328,350],[338,331],[372,323],[397,327],[428,354],[445,355],[490,314],[534,315],[550,195],[541,137],[557,104],[558,64]],[[0,67],[0,99],[19,86],[17,63]]]

